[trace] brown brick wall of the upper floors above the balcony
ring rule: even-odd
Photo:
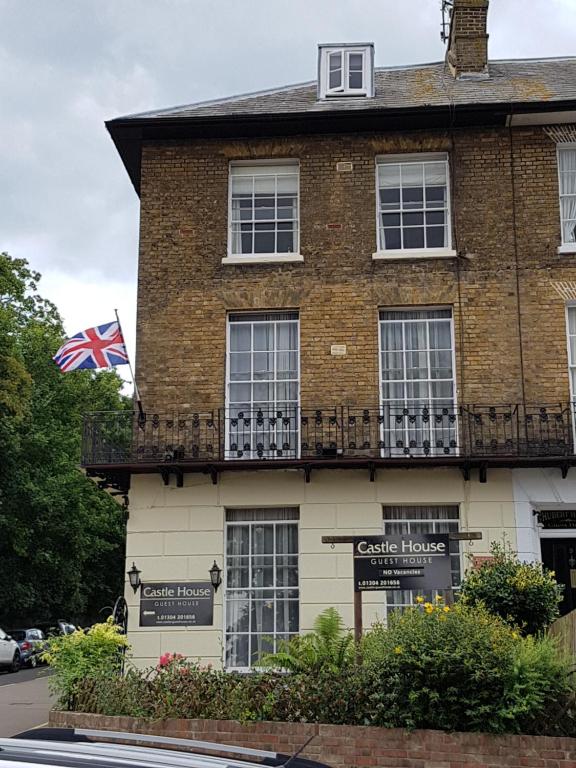
[[[448,153],[453,245],[468,260],[372,260],[376,157],[411,152]],[[250,158],[299,160],[303,263],[222,264],[229,163]],[[238,310],[299,311],[303,408],[376,405],[378,310],[428,305],[453,309],[459,402],[519,402],[521,362],[529,401],[569,399],[556,286],[576,265],[557,253],[556,145],[541,128],[150,143],[141,200],[137,378],[149,411],[223,406],[226,313]],[[335,343],[346,357],[331,357]]]

